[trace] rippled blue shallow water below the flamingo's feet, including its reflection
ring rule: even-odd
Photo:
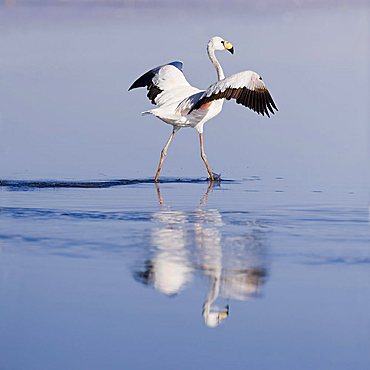
[[[277,181],[3,188],[3,368],[366,369],[368,211]]]

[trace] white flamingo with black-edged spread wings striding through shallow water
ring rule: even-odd
[[[221,37],[215,36],[209,40],[207,52],[216,69],[218,81],[207,90],[200,90],[189,84],[182,72],[183,64],[179,61],[151,69],[130,86],[129,90],[146,86],[147,97],[158,106],[143,114],[152,114],[173,126],[172,134],[161,152],[155,182],[158,182],[168,147],[176,132],[182,127],[193,127],[198,131],[201,157],[207,168],[209,180],[214,180],[204,151],[203,126],[221,112],[225,99],[235,99],[238,104],[263,116],[266,114],[270,117],[269,112],[274,114],[274,109],[278,110],[262,77],[256,72],[243,71],[225,78],[215,56],[215,51],[223,50],[234,53],[233,45]]]

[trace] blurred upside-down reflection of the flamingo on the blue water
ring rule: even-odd
[[[223,220],[218,209],[207,209],[212,185],[194,212],[171,209],[156,185],[160,210],[152,215],[146,256],[134,278],[167,295],[179,294],[194,277],[209,280],[202,315],[215,328],[229,316],[230,300],[246,301],[259,295],[267,278],[265,233],[255,220],[240,232]],[[223,304],[217,303],[224,300]]]

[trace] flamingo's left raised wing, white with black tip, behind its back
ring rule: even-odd
[[[149,100],[153,104],[161,105],[159,97],[162,92],[168,92],[178,87],[190,86],[182,73],[182,65],[182,62],[175,61],[153,68],[139,77],[128,90],[146,86]]]

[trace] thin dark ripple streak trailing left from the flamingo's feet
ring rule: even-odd
[[[207,178],[162,178],[159,180],[162,184],[201,184],[207,183]],[[235,180],[219,179],[220,182],[235,182]],[[104,189],[113,186],[127,186],[138,184],[154,184],[154,179],[113,179],[96,181],[53,181],[53,180],[0,180],[0,187],[10,190],[32,190],[44,188],[86,188],[86,189]]]

